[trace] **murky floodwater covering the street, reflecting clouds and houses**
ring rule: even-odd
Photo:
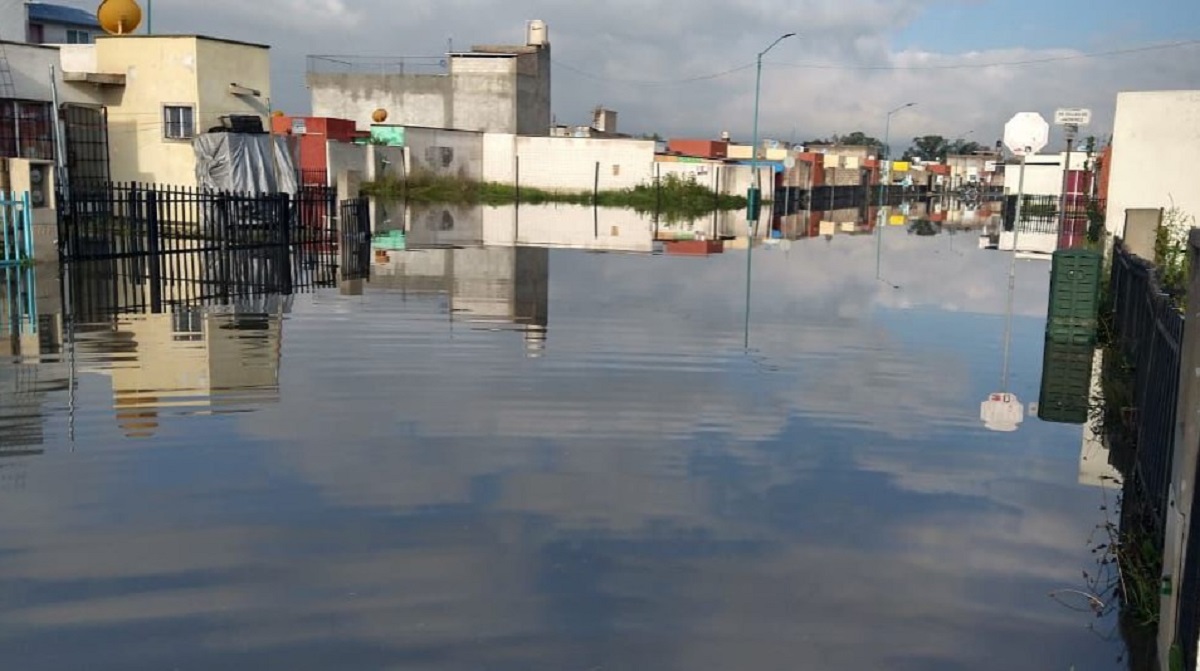
[[[748,306],[744,241],[540,215],[608,252],[380,251],[70,328],[41,269],[0,360],[0,669],[1123,667],[1050,597],[1116,496],[1081,427],[980,420],[1038,400],[1046,262],[1006,384],[976,232],[756,246]]]

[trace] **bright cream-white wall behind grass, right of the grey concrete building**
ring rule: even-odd
[[[654,142],[517,137],[521,185],[551,191],[590,191],[600,163],[600,188],[631,188],[653,179]]]

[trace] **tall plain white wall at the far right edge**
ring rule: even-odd
[[[1200,91],[1117,95],[1108,188],[1108,230],[1121,235],[1128,208],[1166,208],[1200,217],[1194,166],[1200,156]],[[1193,223],[1194,224],[1194,223]]]

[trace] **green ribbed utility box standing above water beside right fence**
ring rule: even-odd
[[[1080,345],[1096,342],[1103,268],[1104,257],[1099,252],[1060,250],[1054,253],[1046,314],[1049,340]]]

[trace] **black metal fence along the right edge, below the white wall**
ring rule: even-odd
[[[1112,250],[1114,336],[1133,365],[1136,408],[1134,479],[1156,517],[1162,544],[1175,449],[1183,313],[1158,283],[1154,266],[1126,250]]]

